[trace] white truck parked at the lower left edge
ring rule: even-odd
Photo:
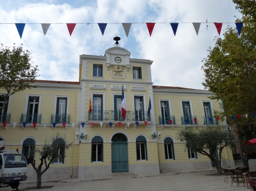
[[[0,150],[0,188],[11,186],[18,190],[20,181],[27,179],[27,161],[21,153],[3,150],[5,145],[6,141]]]

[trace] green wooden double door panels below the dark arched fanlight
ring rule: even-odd
[[[112,172],[128,172],[127,142],[112,143]]]

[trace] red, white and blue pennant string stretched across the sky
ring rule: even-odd
[[[107,24],[122,24],[124,32],[126,33],[127,37],[128,37],[128,34],[129,34],[132,24],[146,24],[147,28],[148,28],[149,36],[151,37],[153,29],[155,27],[155,24],[166,24],[166,23],[168,23],[168,22],[157,22],[157,23],[142,23],[142,22],[136,22],[136,23],[0,23],[0,24],[15,24],[16,28],[18,30],[18,33],[20,35],[20,38],[22,38],[22,34],[23,34],[26,24],[41,24],[44,35],[46,35],[51,24],[66,24],[70,36],[72,35],[72,32],[75,29],[76,24],[86,24],[86,26],[89,24],[98,24],[102,36],[104,35]],[[180,22],[180,23],[190,23],[190,22]],[[178,24],[180,24],[180,23],[169,23],[171,25],[171,28],[173,29],[174,36],[176,36]],[[207,21],[206,22],[192,22],[194,29],[196,31],[196,35],[198,35],[201,23],[207,24],[206,25],[207,30],[208,30],[209,24],[211,24],[211,23],[214,24],[217,29],[218,35],[220,36],[223,23],[207,22]],[[230,24],[230,22],[228,22],[228,24]],[[236,25],[238,35],[240,36],[241,30],[243,27],[243,23],[235,23],[235,25]]]

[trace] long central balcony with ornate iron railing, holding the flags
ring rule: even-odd
[[[92,111],[88,113],[88,121],[124,121],[119,111]],[[127,111],[125,121],[150,121],[147,111]]]

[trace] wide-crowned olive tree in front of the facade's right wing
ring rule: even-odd
[[[222,174],[221,154],[225,147],[234,147],[234,135],[221,127],[207,127],[194,130],[193,128],[182,128],[178,130],[177,139],[184,142],[185,150],[190,148],[209,157],[217,169],[218,175]],[[214,155],[218,150],[218,158]]]

